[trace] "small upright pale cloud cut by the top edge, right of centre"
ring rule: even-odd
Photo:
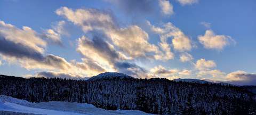
[[[174,13],[173,6],[169,1],[158,0],[161,11],[165,15],[172,15]]]

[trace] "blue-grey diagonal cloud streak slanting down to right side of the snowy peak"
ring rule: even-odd
[[[129,60],[124,59],[119,52],[113,48],[113,46],[110,46],[109,43],[105,41],[102,37],[94,36],[92,39],[89,39],[87,37],[82,37],[78,40],[79,44],[82,45],[82,47],[78,47],[78,51],[81,52],[85,57],[89,57],[94,54],[88,54],[87,52],[83,52],[83,48],[86,48],[90,51],[93,51],[93,53],[96,53],[100,57],[103,57],[103,59],[107,60],[110,65],[113,65],[113,67],[118,71],[125,73],[127,75],[138,77],[138,78],[145,78],[147,71],[139,65],[129,62]],[[79,50],[80,49],[80,50]],[[100,59],[97,59],[99,61]]]

